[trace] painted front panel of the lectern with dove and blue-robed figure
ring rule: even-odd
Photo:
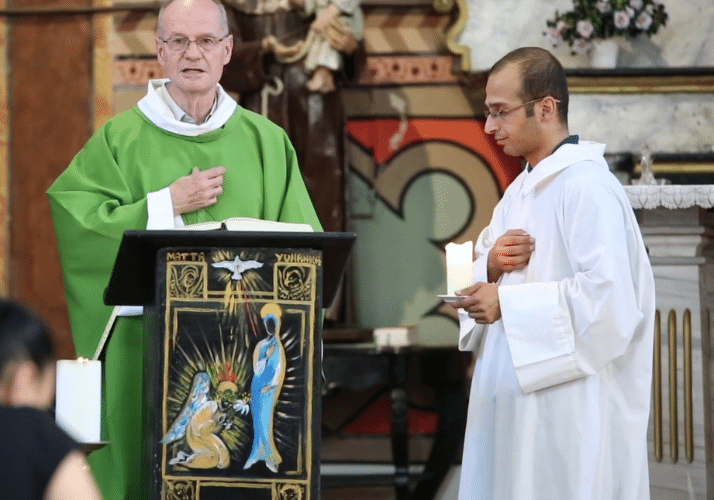
[[[152,498],[316,498],[321,253],[164,257]]]

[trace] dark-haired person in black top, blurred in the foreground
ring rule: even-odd
[[[55,353],[45,325],[27,309],[0,301],[0,497],[100,499],[79,444],[49,411]]]

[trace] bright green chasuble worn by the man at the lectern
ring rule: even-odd
[[[152,123],[138,108],[98,130],[48,190],[77,354],[92,357],[111,307],[104,289],[125,230],[145,229],[147,193],[194,166],[224,166],[223,194],[184,214],[186,224],[254,217],[309,223],[321,231],[285,132],[240,106],[220,128],[196,137]],[[141,491],[143,320],[120,317],[106,347],[103,439],[89,456],[107,500]]]

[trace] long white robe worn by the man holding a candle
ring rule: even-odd
[[[477,360],[460,500],[647,500],[654,279],[634,213],[602,156],[565,144],[506,190],[476,242],[535,238],[499,281],[502,319],[460,311]]]

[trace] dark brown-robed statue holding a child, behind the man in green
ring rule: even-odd
[[[235,46],[221,84],[239,94],[240,104],[285,129],[323,227],[344,229],[344,117],[339,81],[308,88],[314,71],[297,56],[313,21],[304,0],[226,0]],[[319,20],[315,20],[315,22]],[[336,75],[352,77],[362,51],[359,37],[339,16],[329,16],[322,35],[344,57]],[[314,31],[314,30],[313,30]],[[284,62],[281,62],[284,61]],[[320,80],[322,82],[322,80]]]

